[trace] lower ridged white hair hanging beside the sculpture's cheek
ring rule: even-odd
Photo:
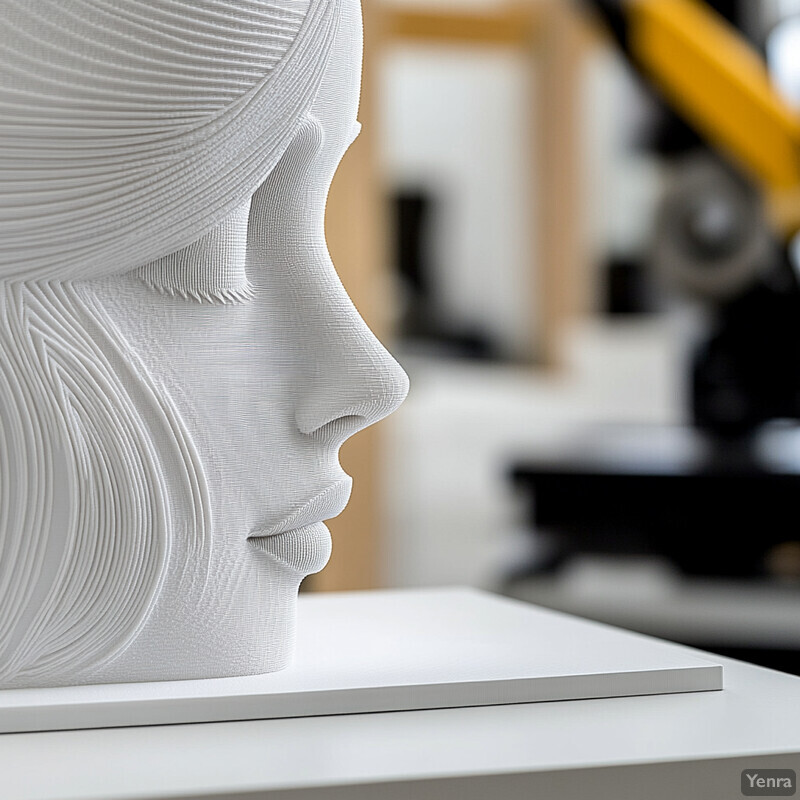
[[[208,497],[169,401],[71,284],[0,285],[0,685],[107,664]],[[179,468],[176,468],[179,466]],[[196,578],[195,578],[196,579]]]

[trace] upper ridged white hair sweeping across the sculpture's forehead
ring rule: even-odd
[[[241,208],[313,101],[336,4],[0,0],[0,279],[127,272]]]

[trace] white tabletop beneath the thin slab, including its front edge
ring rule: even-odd
[[[6,734],[0,796],[740,797],[800,771],[800,679],[717,660],[720,692]]]

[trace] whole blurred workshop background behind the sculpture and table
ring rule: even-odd
[[[800,674],[800,0],[364,5],[328,238],[411,392],[305,588]]]

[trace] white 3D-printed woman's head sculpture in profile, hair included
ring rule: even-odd
[[[407,392],[324,241],[358,0],[0,17],[0,687],[280,669]]]

